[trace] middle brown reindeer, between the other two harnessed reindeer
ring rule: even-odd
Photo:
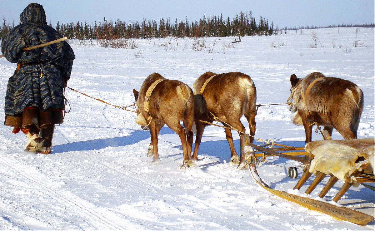
[[[212,77],[213,76],[213,77]],[[210,77],[212,77],[208,82]],[[199,76],[193,84],[194,99],[195,99],[195,125],[196,138],[195,148],[192,155],[194,161],[198,160],[198,148],[201,143],[202,134],[207,123],[213,122],[214,118],[211,115],[220,119],[223,125],[228,127],[228,124],[239,131],[241,156],[236,153],[233,145],[233,137],[230,129],[225,128],[226,140],[231,149],[231,163],[239,164],[238,169],[245,167],[245,127],[240,121],[242,115],[245,115],[249,122],[251,142],[254,141],[255,134],[255,115],[257,90],[253,80],[250,76],[240,72],[229,72],[216,75],[212,72],[206,72]],[[202,91],[204,88],[204,91]],[[202,93],[201,93],[202,92]],[[211,112],[211,113],[210,113]]]

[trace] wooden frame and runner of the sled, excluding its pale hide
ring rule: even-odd
[[[319,143],[321,142],[321,143]],[[263,152],[262,156],[264,155],[272,155],[272,156],[279,156],[287,159],[292,159],[295,161],[299,161],[302,164],[306,164],[306,167],[304,168],[304,172],[302,174],[302,177],[300,180],[297,182],[296,186],[294,189],[300,189],[306,181],[309,179],[309,177],[313,174],[316,174],[315,179],[312,181],[312,183],[308,186],[308,189],[306,189],[305,193],[306,194],[311,194],[311,192],[315,189],[315,187],[324,179],[324,177],[327,175],[326,173],[329,173],[327,170],[323,170],[324,173],[318,171],[319,168],[314,168],[313,172],[309,171],[309,168],[311,166],[311,163],[318,165],[314,163],[314,153],[321,151],[322,143],[328,142],[329,145],[332,143],[338,143],[338,145],[351,145],[355,146],[357,149],[363,149],[363,147],[368,147],[368,146],[374,146],[374,139],[359,139],[359,140],[352,140],[352,141],[346,141],[346,140],[321,140],[318,142],[311,142],[308,143],[310,145],[306,145],[305,150],[306,152],[298,152],[298,154],[301,154],[303,156],[296,156],[289,153],[281,153],[281,152],[276,152],[277,151],[283,151],[285,149],[292,149],[292,148],[265,148],[264,146],[257,146],[254,145],[250,142],[250,137],[248,134],[246,134],[246,145],[251,146],[258,152]],[[268,146],[268,145],[265,145]],[[293,150],[298,150],[293,149]],[[301,149],[300,149],[301,150]],[[354,148],[353,148],[354,150]],[[373,147],[372,147],[373,150]],[[347,151],[347,150],[346,150]],[[366,152],[366,151],[365,151]],[[297,154],[297,155],[298,155]],[[353,209],[348,209],[347,207],[344,206],[336,206],[335,204],[328,203],[325,201],[320,201],[320,200],[314,200],[312,198],[308,197],[301,197],[298,195],[290,194],[285,191],[279,191],[276,189],[272,189],[270,186],[268,186],[259,176],[257,169],[256,169],[256,164],[257,161],[259,161],[257,154],[254,152],[248,151],[246,153],[248,156],[248,167],[249,170],[252,174],[252,177],[254,178],[255,182],[257,182],[262,188],[266,189],[267,191],[271,192],[272,194],[284,198],[285,200],[292,201],[294,203],[299,204],[300,206],[307,207],[308,209],[315,210],[321,213],[325,213],[327,215],[332,216],[333,218],[340,219],[343,221],[350,221],[354,224],[359,224],[359,225],[366,225],[369,222],[374,221],[374,217],[362,212],[359,212],[357,210]],[[359,155],[361,155],[359,153]],[[258,155],[259,156],[259,155]],[[324,162],[324,158],[320,158]],[[362,161],[361,158],[359,158],[360,163]],[[316,162],[316,160],[315,160]],[[325,165],[324,163],[321,165]],[[315,166],[316,167],[316,166]],[[324,186],[323,190],[320,192],[319,197],[323,198],[327,192],[335,185],[336,182],[338,182],[339,178],[342,178],[341,176],[337,177],[334,174],[337,175],[337,173],[329,173],[330,174],[330,179],[327,182],[326,186]],[[374,171],[371,167],[371,164],[363,161],[362,164],[358,164],[353,170],[350,170],[347,174],[345,175],[345,183],[344,186],[339,190],[339,192],[336,194],[336,196],[333,198],[333,201],[337,202],[340,200],[340,198],[345,194],[345,192],[350,188],[355,183],[364,183],[364,182],[374,182]]]

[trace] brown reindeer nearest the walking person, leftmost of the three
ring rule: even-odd
[[[133,89],[133,93],[138,107],[135,122],[144,130],[150,128],[151,143],[147,156],[153,155],[151,164],[160,164],[157,135],[166,124],[180,136],[184,155],[181,168],[190,166],[194,124],[192,89],[183,82],[165,79],[158,73],[152,73],[144,80],[139,92]],[[180,121],[184,127],[180,125]]]

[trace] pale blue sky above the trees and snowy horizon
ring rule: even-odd
[[[19,16],[23,9],[31,2],[44,7],[47,21],[53,26],[58,21],[92,22],[120,19],[128,22],[143,17],[147,20],[171,18],[189,22],[199,21],[204,13],[207,17],[223,14],[223,18],[232,20],[240,11],[252,11],[257,22],[260,16],[266,17],[274,27],[326,26],[339,24],[366,24],[375,21],[374,0],[0,0],[1,22],[3,16],[7,22],[14,20],[15,25],[20,22]]]

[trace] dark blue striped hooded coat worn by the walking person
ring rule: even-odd
[[[5,115],[15,116],[27,107],[41,111],[62,108],[63,89],[71,75],[74,52],[66,41],[22,51],[62,36],[47,25],[40,4],[30,3],[20,20],[21,24],[10,30],[1,42],[4,57],[18,64],[7,85]]]

